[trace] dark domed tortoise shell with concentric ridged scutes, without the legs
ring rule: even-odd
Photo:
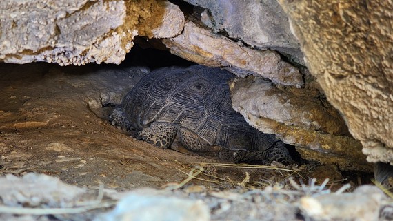
[[[231,150],[267,149],[276,141],[232,108],[228,82],[234,75],[220,68],[165,67],[144,76],[123,98],[125,116],[137,131],[152,122],[177,123],[210,145]]]

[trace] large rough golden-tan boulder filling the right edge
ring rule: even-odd
[[[310,72],[370,162],[393,163],[392,1],[279,0]]]

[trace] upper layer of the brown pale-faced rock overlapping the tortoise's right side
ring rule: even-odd
[[[232,103],[240,112],[285,125],[345,135],[347,127],[336,109],[304,90],[285,90],[261,78],[240,78],[231,84]]]

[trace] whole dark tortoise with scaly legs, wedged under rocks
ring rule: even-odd
[[[110,121],[158,147],[170,147],[177,137],[185,149],[225,161],[292,162],[281,140],[254,129],[232,109],[233,77],[201,65],[155,70],[128,92]]]

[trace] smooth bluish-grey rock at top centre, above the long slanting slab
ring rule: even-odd
[[[290,32],[288,17],[276,0],[185,0],[206,8],[201,21],[214,32],[226,32],[252,47],[273,49],[303,64],[299,42]]]

